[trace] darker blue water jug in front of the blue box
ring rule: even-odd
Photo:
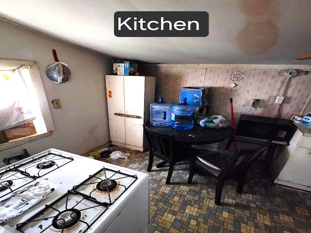
[[[193,128],[193,114],[195,106],[187,103],[187,98],[182,98],[181,103],[172,106],[171,127],[177,130],[190,130]]]

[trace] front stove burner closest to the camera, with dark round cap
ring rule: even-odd
[[[53,218],[53,227],[56,229],[67,229],[75,225],[80,218],[81,212],[79,210],[65,210]]]

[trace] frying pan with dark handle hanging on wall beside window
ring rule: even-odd
[[[46,73],[50,80],[54,83],[66,83],[69,81],[71,72],[67,64],[58,60],[56,50],[53,51],[54,62],[47,67]]]

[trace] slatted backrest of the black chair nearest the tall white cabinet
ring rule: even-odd
[[[149,145],[149,153],[164,161],[172,161],[174,135],[156,133],[145,127],[145,125],[143,127]]]

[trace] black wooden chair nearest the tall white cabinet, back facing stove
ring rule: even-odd
[[[191,148],[191,145],[177,144],[174,141],[174,135],[165,135],[156,133],[144,126],[144,132],[149,145],[149,163],[147,171],[151,171],[154,156],[163,160],[161,165],[168,163],[169,173],[167,175],[166,184],[170,184],[174,165],[178,162],[189,160],[191,157],[199,154],[199,150]],[[157,167],[161,167],[157,165]]]

